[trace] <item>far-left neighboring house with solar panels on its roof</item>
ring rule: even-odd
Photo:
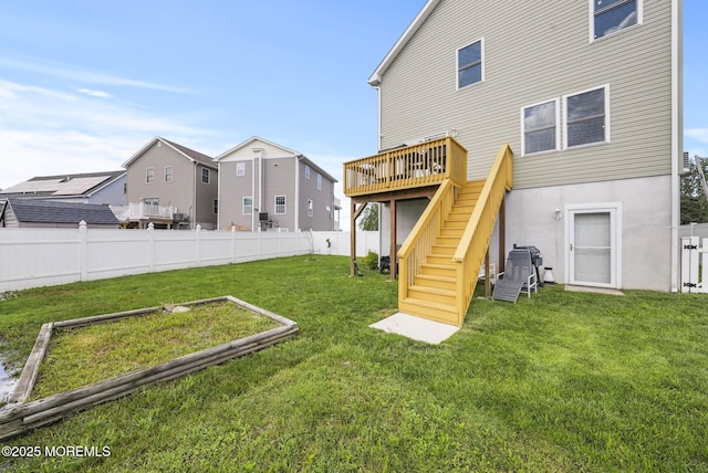
[[[124,170],[39,176],[1,190],[0,202],[7,199],[34,199],[124,206],[127,203],[126,182],[127,172]]]

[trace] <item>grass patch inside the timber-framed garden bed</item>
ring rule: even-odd
[[[30,400],[156,366],[173,358],[258,334],[278,324],[231,303],[187,313],[153,314],[55,328]]]

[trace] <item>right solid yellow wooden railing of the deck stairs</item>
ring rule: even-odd
[[[462,325],[465,322],[465,314],[477,285],[479,269],[494,231],[499,208],[506,192],[511,190],[512,186],[513,151],[509,145],[503,145],[497,154],[477,206],[452,256],[457,278],[457,325]]]

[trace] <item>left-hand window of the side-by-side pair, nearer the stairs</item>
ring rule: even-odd
[[[521,109],[522,155],[559,149],[558,98]]]

